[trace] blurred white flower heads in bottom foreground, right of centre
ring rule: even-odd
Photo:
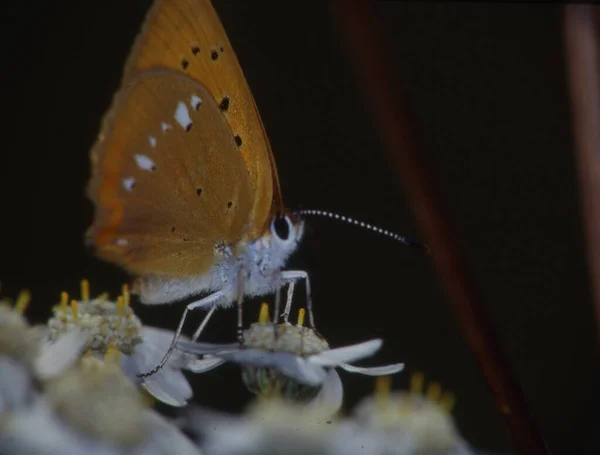
[[[474,455],[449,414],[451,400],[430,387],[390,393],[378,378],[375,396],[352,416],[280,400],[259,400],[242,416],[190,410],[184,428],[211,455]],[[382,386],[383,385],[383,386]],[[437,389],[439,391],[439,389]]]

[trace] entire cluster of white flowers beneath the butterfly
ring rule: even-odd
[[[241,343],[181,337],[164,367],[140,379],[159,364],[174,333],[144,326],[127,286],[116,301],[90,298],[84,280],[80,299],[62,293],[45,326],[31,326],[23,316],[29,298],[24,292],[14,305],[0,302],[2,454],[474,453],[456,431],[449,395],[433,384],[423,396],[420,376],[411,392],[391,392],[389,375],[402,371],[402,363],[350,363],[372,356],[381,340],[331,348],[304,326],[302,309],[296,324],[277,324],[263,304]],[[185,374],[224,363],[239,365],[242,381],[259,398],[242,416],[191,403]],[[348,416],[340,412],[337,369],[381,376],[375,395]],[[180,409],[179,416],[157,412],[157,401]]]

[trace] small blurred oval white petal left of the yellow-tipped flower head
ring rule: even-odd
[[[41,379],[49,379],[62,373],[77,360],[88,339],[88,331],[74,328],[54,343],[42,346],[40,355],[35,359],[37,375]]]

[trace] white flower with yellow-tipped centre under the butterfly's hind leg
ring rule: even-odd
[[[181,372],[191,356],[174,352],[155,374],[143,379],[137,377],[159,364],[174,333],[143,326],[129,306],[126,286],[117,302],[112,302],[106,296],[90,299],[87,282],[83,281],[82,300],[72,300],[69,304],[63,293],[61,303],[53,311],[54,317],[48,321],[52,336],[71,327],[85,328],[90,333],[88,349],[100,358],[110,350],[120,353],[123,372],[157,400],[171,406],[185,406],[192,397],[192,389]]]

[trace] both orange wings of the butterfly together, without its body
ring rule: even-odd
[[[203,99],[197,112],[192,93]],[[182,100],[200,128],[161,131]],[[136,166],[139,156],[156,172]],[[283,209],[263,124],[207,0],[151,8],[91,157],[88,234],[99,256],[132,273],[204,273],[215,245],[260,237]]]

